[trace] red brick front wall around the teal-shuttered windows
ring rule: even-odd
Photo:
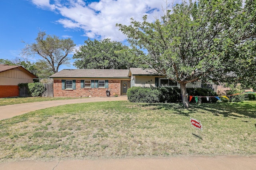
[[[81,88],[81,80],[76,80],[76,90],[62,90],[62,80],[54,80],[54,97],[106,97],[106,90],[110,96],[120,96],[120,80],[108,80],[108,88]]]

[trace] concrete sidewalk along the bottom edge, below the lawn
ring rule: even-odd
[[[255,170],[256,156],[179,156],[1,163],[1,170]]]

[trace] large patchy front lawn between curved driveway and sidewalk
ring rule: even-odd
[[[201,121],[203,131],[190,124]],[[0,121],[0,160],[255,155],[256,101],[70,104]]]

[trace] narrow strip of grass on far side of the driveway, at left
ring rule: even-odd
[[[67,99],[78,99],[78,98],[40,98],[40,97],[18,97],[18,98],[0,98],[0,106],[12,105],[12,104],[22,104],[22,103],[32,103],[32,102],[44,102],[52,100],[67,100]]]

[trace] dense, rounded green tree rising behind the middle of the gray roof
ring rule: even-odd
[[[84,69],[127,69],[137,67],[128,46],[110,39],[86,40],[73,56],[74,66]]]

